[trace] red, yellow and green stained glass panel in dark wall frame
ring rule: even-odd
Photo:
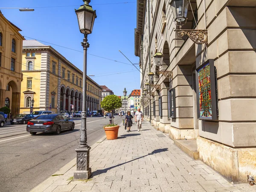
[[[198,86],[200,117],[212,117],[212,93],[209,63],[198,70]]]

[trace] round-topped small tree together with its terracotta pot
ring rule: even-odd
[[[105,111],[112,113],[112,124],[105,125],[103,128],[106,133],[107,140],[116,140],[118,136],[119,125],[114,124],[113,110],[122,107],[121,99],[116,95],[108,95],[101,102],[101,107]]]

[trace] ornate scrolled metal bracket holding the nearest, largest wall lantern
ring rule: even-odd
[[[182,38],[184,35],[188,35],[189,38],[194,41],[196,44],[208,44],[208,34],[207,30],[198,30],[198,29],[175,29],[178,36]]]

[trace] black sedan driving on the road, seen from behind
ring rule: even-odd
[[[38,132],[60,134],[62,130],[71,130],[75,128],[75,123],[67,117],[59,114],[47,114],[37,116],[28,122],[26,131],[35,135]]]

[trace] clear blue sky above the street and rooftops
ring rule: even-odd
[[[83,34],[75,13],[82,4],[83,0],[5,0],[0,10],[22,30],[20,34],[27,40],[41,40],[83,70]],[[91,0],[90,5],[96,10],[97,18],[92,34],[88,35],[87,75],[94,75],[90,78],[106,85],[117,96],[123,95],[125,87],[127,95],[140,89],[140,72],[119,52],[139,68],[139,57],[134,55],[137,0]],[[1,8],[33,8],[35,11]]]

